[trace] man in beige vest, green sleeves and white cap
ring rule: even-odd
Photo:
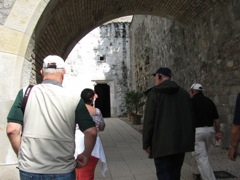
[[[80,96],[62,87],[61,57],[47,56],[40,72],[43,82],[31,89],[25,110],[21,89],[7,117],[6,131],[18,157],[20,179],[75,180],[75,167],[86,166],[94,148],[96,125]],[[76,123],[84,133],[85,149],[75,160]]]

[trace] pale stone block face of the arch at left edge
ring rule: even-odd
[[[16,155],[6,136],[6,117],[18,90],[22,87],[22,66],[26,48],[47,3],[48,1],[42,0],[16,0],[9,4],[12,6],[9,15],[0,17],[0,179],[18,179]]]

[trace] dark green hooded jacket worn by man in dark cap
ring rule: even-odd
[[[195,127],[189,94],[166,80],[145,93],[143,149],[150,158],[194,151]]]

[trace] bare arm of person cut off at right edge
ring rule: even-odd
[[[236,159],[236,149],[240,140],[240,125],[233,124],[231,129],[230,149],[228,152],[228,158],[230,160]]]

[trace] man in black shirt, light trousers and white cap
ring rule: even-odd
[[[208,161],[207,150],[212,141],[212,133],[216,140],[221,139],[220,121],[214,102],[203,94],[202,85],[194,83],[189,89],[195,119],[195,151],[192,172],[201,175],[202,179],[214,180],[215,175]]]

